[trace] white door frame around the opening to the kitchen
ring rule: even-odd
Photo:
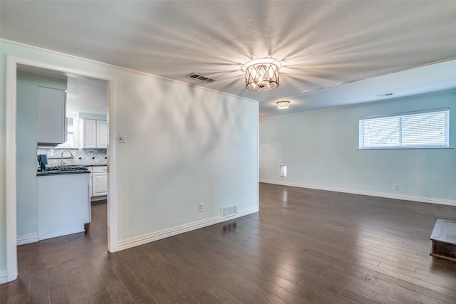
[[[6,57],[6,281],[18,276],[16,229],[16,90],[18,65],[44,68],[65,75],[81,75],[107,81],[108,90],[108,251],[116,251],[117,222],[115,201],[115,76],[90,73],[17,56]]]

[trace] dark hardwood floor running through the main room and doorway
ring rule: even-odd
[[[456,303],[430,256],[455,206],[260,184],[260,211],[118,253],[106,205],[88,234],[18,247],[1,303]]]

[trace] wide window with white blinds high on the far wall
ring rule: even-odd
[[[450,109],[361,117],[360,149],[449,147]]]

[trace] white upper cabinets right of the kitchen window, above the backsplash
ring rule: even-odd
[[[79,148],[107,148],[108,122],[105,120],[79,120]]]

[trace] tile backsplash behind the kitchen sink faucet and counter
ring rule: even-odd
[[[107,164],[108,154],[106,149],[41,149],[36,150],[36,154],[48,155],[48,166],[59,166],[61,162],[61,154],[63,151],[69,150],[70,153],[63,154],[63,164],[74,165],[99,165]],[[38,165],[38,162],[37,162]]]

